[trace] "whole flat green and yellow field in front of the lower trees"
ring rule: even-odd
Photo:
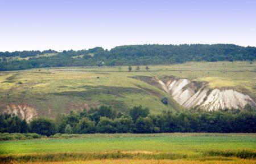
[[[0,143],[0,158],[6,162],[97,162],[104,159],[108,163],[108,159],[115,159],[118,163],[129,159],[137,163],[138,159],[150,159],[154,163],[155,159],[166,162],[175,159],[180,163],[184,160],[254,163],[255,151],[254,133],[56,134]]]

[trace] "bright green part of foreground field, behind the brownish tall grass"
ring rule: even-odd
[[[0,143],[0,154],[2,154],[0,157],[38,153],[36,156],[39,158],[40,154],[53,153],[54,156],[58,156],[58,153],[72,153],[75,156],[76,153],[108,152],[146,154],[138,155],[142,159],[151,158],[154,154],[157,158],[160,157],[157,154],[168,153],[176,154],[174,159],[200,159],[209,158],[207,152],[210,150],[221,152],[249,150],[255,152],[255,142],[255,134],[244,133],[88,134],[71,139],[3,141]],[[96,155],[92,158],[100,159]],[[153,159],[155,158],[153,157]],[[161,158],[170,159],[168,155],[157,159]],[[51,160],[54,161],[54,158],[51,157]]]

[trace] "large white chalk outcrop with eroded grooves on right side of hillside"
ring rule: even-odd
[[[163,81],[155,77],[155,80],[166,93],[187,109],[197,106],[211,111],[225,108],[242,109],[247,103],[255,105],[250,96],[233,89],[210,90],[207,83],[177,79],[176,77],[166,77]]]

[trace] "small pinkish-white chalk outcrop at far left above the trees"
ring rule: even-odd
[[[33,118],[38,117],[36,110],[33,107],[27,105],[7,105],[6,109],[3,110],[3,113],[15,114],[21,119],[25,119],[27,122],[30,122]]]

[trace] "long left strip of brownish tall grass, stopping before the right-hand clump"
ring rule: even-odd
[[[47,153],[47,154],[9,154],[1,155],[2,162],[54,162],[54,161],[76,161],[93,159],[183,159],[186,154],[173,153]]]

